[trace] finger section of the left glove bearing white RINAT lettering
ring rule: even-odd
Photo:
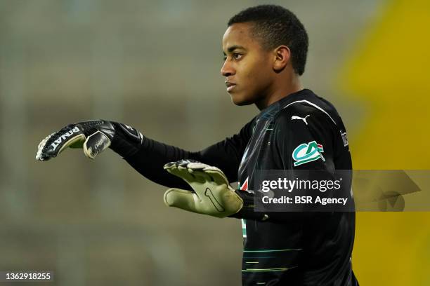
[[[85,135],[77,125],[67,125],[39,143],[36,159],[39,161],[49,160],[58,156],[61,151],[70,147],[71,144],[84,141],[84,139]]]

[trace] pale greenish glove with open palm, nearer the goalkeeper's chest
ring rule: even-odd
[[[227,217],[242,209],[242,198],[230,187],[226,175],[219,168],[181,160],[167,163],[164,169],[184,179],[194,190],[168,189],[164,193],[167,206],[213,217]]]

